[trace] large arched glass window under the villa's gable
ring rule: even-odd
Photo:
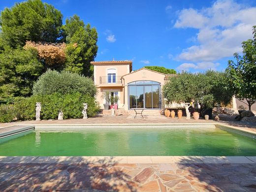
[[[160,83],[133,81],[128,83],[129,109],[160,109]]]

